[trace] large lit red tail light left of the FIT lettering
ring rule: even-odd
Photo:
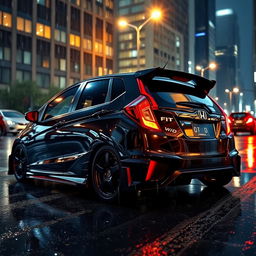
[[[152,111],[150,101],[141,95],[125,107],[125,111],[140,123],[144,128],[161,131],[155,115]]]

